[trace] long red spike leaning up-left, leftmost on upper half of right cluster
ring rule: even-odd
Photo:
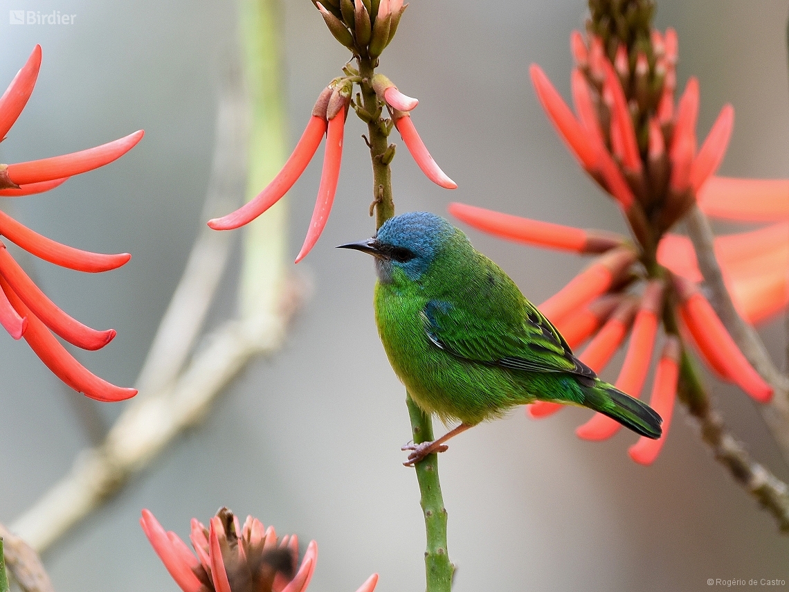
[[[529,73],[532,77],[534,90],[537,92],[537,99],[540,100],[540,104],[559,135],[567,142],[570,152],[575,155],[585,170],[595,170],[597,151],[589,141],[589,136],[585,133],[584,128],[570,111],[570,107],[567,107],[567,103],[564,102],[540,66],[532,64],[529,66]]]

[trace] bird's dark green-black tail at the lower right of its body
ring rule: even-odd
[[[596,380],[592,386],[581,387],[584,393],[584,407],[589,407],[621,423],[627,429],[653,440],[657,440],[663,430],[663,418],[652,407],[626,395],[613,385]]]

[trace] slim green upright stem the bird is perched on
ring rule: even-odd
[[[368,144],[372,159],[372,195],[376,211],[376,228],[394,216],[391,169],[384,159],[389,149],[386,121],[381,117],[382,107],[372,89],[370,81],[375,73],[376,62],[370,58],[359,58],[361,77],[361,107],[369,119]],[[371,210],[372,215],[372,210]],[[406,393],[406,405],[411,419],[414,444],[433,440],[433,425],[430,416],[417,407]],[[439,481],[439,459],[437,454],[427,455],[415,466],[424,513],[424,529],[428,548],[424,553],[424,568],[427,592],[451,592],[454,567],[447,554],[447,509],[444,508]]]

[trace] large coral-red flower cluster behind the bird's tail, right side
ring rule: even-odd
[[[720,377],[753,399],[766,403],[772,396],[697,287],[702,277],[690,241],[667,230],[695,204],[730,219],[786,219],[789,182],[712,176],[731,136],[731,105],[721,110],[697,150],[696,79],[688,81],[675,104],[675,31],[650,28],[653,4],[645,0],[590,0],[589,6],[588,42],[580,32],[570,38],[575,112],[540,66],[531,66],[531,77],[548,118],[581,167],[618,202],[636,241],[465,204],[452,204],[450,212],[503,238],[598,255],[540,309],[570,347],[589,340],[579,358],[597,372],[630,334],[615,381],[630,395],[641,395],[662,324],[664,343],[650,405],[664,418],[663,436],[641,438],[630,448],[631,458],[649,464],[667,436],[684,343],[694,343]],[[743,199],[749,193],[753,197]],[[778,223],[716,239],[727,286],[746,320],[761,320],[787,305],[787,230],[787,223]],[[539,402],[529,406],[529,414],[545,417],[560,407]],[[596,414],[577,433],[603,440],[617,429],[619,424]]]

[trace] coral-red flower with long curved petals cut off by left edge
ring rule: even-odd
[[[0,139],[5,139],[24,109],[36,85],[41,65],[41,47],[36,46],[28,62],[0,97]],[[119,140],[27,163],[0,164],[0,196],[20,197],[42,193],[61,185],[69,177],[103,167],[129,152],[143,131]],[[80,272],[106,272],[121,267],[129,253],[104,255],[61,245],[24,227],[0,212],[0,234],[22,249],[50,263]],[[0,242],[0,324],[13,337],[24,337],[42,362],[65,384],[99,401],[119,401],[136,395],[96,377],[80,365],[52,335],[86,350],[98,350],[114,338],[113,329],[96,331],[69,317],[32,282]]]

